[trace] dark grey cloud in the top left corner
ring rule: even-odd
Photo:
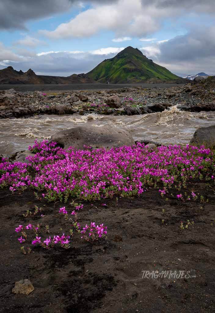
[[[108,0],[103,2],[107,2]],[[29,20],[50,17],[68,12],[72,6],[84,7],[87,0],[0,0],[0,29],[26,29]],[[100,0],[93,0],[98,3]],[[108,2],[113,3],[114,0]]]

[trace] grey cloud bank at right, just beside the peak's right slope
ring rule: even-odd
[[[205,72],[215,74],[215,26],[192,28],[187,34],[173,39],[161,40],[143,47],[148,58],[172,72],[185,76]]]

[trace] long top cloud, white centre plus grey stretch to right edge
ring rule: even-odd
[[[158,31],[165,18],[193,12],[215,12],[212,0],[118,0],[91,1],[91,4],[90,8],[78,13],[69,22],[61,23],[53,31],[42,30],[41,33],[49,38],[81,38],[109,30],[115,32],[116,39],[137,36],[146,41],[148,39],[144,37]]]

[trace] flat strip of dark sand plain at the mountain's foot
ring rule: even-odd
[[[186,82],[187,83],[187,82]],[[124,87],[141,86],[143,88],[170,88],[177,87],[179,84],[58,84],[58,85],[0,85],[0,90],[8,90],[13,88],[16,91],[69,91],[69,90],[105,90],[120,89]]]

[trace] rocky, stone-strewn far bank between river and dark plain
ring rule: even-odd
[[[174,105],[183,111],[215,110],[215,92],[202,86],[178,85],[166,88],[141,86],[110,90],[18,92],[0,91],[0,118],[29,117],[38,114],[97,113],[141,115],[162,112]]]

